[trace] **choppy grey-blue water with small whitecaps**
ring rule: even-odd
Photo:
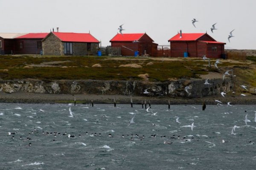
[[[255,105],[207,105],[205,111],[201,105],[151,105],[148,110],[0,103],[0,169],[256,169]],[[231,134],[234,125],[239,127]]]

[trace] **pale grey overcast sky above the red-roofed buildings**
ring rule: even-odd
[[[256,49],[255,0],[0,0],[2,33],[90,33],[111,45],[123,33],[146,32],[155,43],[169,45],[177,31],[207,33],[234,49]],[[191,20],[198,20],[192,25]],[[212,34],[210,28],[217,23]],[[228,42],[230,31],[233,36]],[[56,31],[56,30],[55,30]]]

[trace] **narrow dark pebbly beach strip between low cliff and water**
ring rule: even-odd
[[[131,96],[125,95],[93,95],[93,94],[36,94],[26,92],[15,92],[7,94],[0,92],[1,103],[73,103],[76,97],[76,103],[88,104],[113,104],[113,99],[116,99],[116,104],[131,104]],[[171,105],[201,105],[205,102],[206,105],[216,105],[219,100],[223,105],[230,102],[231,105],[256,105],[256,95],[240,96],[239,94],[230,94],[226,97],[207,96],[200,98],[181,98],[168,96],[132,96],[134,105],[141,105],[142,101],[146,100],[147,104],[151,105],[168,105],[170,100]]]

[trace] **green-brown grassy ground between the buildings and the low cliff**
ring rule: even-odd
[[[23,68],[26,65],[38,65],[44,62],[64,61],[52,64],[55,67]],[[153,65],[146,65],[153,62]],[[218,72],[214,68],[206,68],[207,62],[202,59],[181,59],[181,61],[161,61],[154,59],[127,58],[116,60],[111,57],[32,57],[32,56],[0,56],[0,79],[98,79],[98,80],[142,80],[139,74],[149,74],[149,81],[164,82],[169,79],[199,78],[199,74],[209,71]],[[92,68],[94,64],[101,68]],[[139,64],[142,68],[124,68],[119,65]],[[229,62],[219,64],[220,67],[234,65]],[[239,64],[241,66],[241,64]],[[67,68],[62,68],[66,66]],[[8,71],[4,71],[7,69]]]

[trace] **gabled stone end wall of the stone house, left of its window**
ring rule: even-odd
[[[43,55],[63,55],[64,54],[64,46],[55,35],[50,34],[42,42]]]

